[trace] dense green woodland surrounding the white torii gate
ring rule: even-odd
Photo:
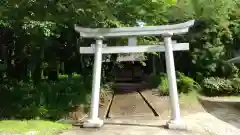
[[[178,74],[181,91],[199,89],[199,83],[211,96],[239,94],[239,66],[225,62],[239,49],[239,4],[238,0],[2,0],[0,116],[56,119],[60,117],[56,112],[88,102],[93,57],[80,55],[78,47],[94,40],[80,38],[75,24],[122,27],[135,26],[136,20],[161,25],[195,19],[188,34],[174,37],[191,45],[189,52],[175,53],[176,69],[182,72]],[[141,38],[148,43],[157,40],[161,38]],[[126,39],[105,42],[118,45]],[[164,54],[145,56],[146,72],[155,67],[153,75],[167,85],[161,75]],[[153,57],[156,64],[151,64]],[[114,66],[120,64],[103,64],[103,83],[111,80]],[[67,74],[67,79],[60,74]],[[160,89],[167,92],[166,85]]]

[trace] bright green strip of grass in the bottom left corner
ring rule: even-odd
[[[58,132],[71,129],[69,124],[60,124],[43,120],[3,120],[0,121],[0,133],[23,134],[37,131],[37,135],[54,135]]]

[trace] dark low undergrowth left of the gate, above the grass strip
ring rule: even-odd
[[[86,83],[87,84],[87,83]],[[90,89],[82,79],[58,82],[10,82],[1,85],[1,116],[59,119],[78,104],[90,103]],[[8,98],[5,98],[8,97]]]

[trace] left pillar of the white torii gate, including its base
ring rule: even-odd
[[[103,37],[96,39],[94,66],[93,66],[93,81],[92,81],[92,100],[90,117],[83,123],[83,127],[98,128],[103,125],[103,120],[98,117],[99,112],[99,94],[101,83],[101,69],[102,69],[102,46]]]

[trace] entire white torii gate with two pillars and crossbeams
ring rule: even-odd
[[[162,26],[143,26],[143,27],[123,27],[123,28],[83,28],[75,26],[75,30],[83,38],[95,38],[96,44],[92,47],[80,47],[80,53],[94,54],[92,99],[90,117],[83,123],[83,127],[97,128],[103,125],[103,120],[99,119],[99,93],[101,80],[102,54],[112,53],[139,53],[139,52],[165,52],[170,104],[171,120],[167,122],[168,128],[185,128],[181,120],[180,107],[178,101],[178,91],[175,75],[175,65],[173,51],[189,50],[188,43],[173,43],[174,34],[187,33],[189,28],[194,25],[194,20],[184,23]],[[104,38],[111,37],[137,37],[161,35],[164,38],[160,45],[141,45],[141,46],[103,46]]]

